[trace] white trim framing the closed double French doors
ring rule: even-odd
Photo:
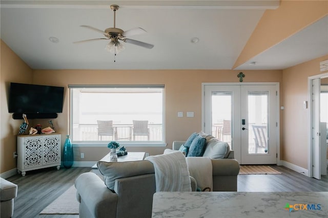
[[[282,165],[280,160],[280,83],[279,82],[202,82],[201,83],[201,129],[204,130],[204,95],[205,85],[277,85],[277,165]]]

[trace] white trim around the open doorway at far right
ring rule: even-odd
[[[309,139],[308,139],[308,177],[313,177],[313,144],[312,144],[312,138],[313,138],[313,119],[312,119],[312,113],[313,113],[313,103],[312,103],[312,81],[314,79],[321,79],[328,77],[328,73],[318,74],[314,76],[308,77],[308,98],[309,98]]]

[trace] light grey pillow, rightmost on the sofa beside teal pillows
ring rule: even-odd
[[[210,157],[211,159],[227,158],[229,152],[230,146],[227,142],[221,142],[217,139],[213,139],[207,143],[203,156]]]

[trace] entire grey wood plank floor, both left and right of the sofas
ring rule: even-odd
[[[328,176],[309,178],[283,166],[272,166],[280,175],[239,175],[238,191],[328,191]],[[74,184],[75,178],[91,167],[45,168],[15,175],[7,180],[18,185],[14,218],[75,218],[78,215],[39,215],[51,202]]]

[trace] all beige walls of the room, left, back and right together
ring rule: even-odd
[[[308,110],[302,102],[308,100],[308,76],[320,74],[319,62],[328,56],[299,64],[283,71],[242,71],[244,82],[280,82],[281,159],[308,168]],[[22,120],[13,120],[7,109],[9,82],[65,86],[63,113],[53,119],[62,145],[68,134],[68,84],[165,84],[166,142],[185,140],[191,133],[201,130],[201,83],[238,82],[232,70],[31,70],[1,41],[1,173],[16,167],[12,153],[16,150],[16,134]],[[282,83],[283,81],[283,83]],[[177,118],[178,111],[194,111],[194,118]],[[30,126],[48,119],[30,120]],[[130,151],[147,151],[161,154],[164,147],[128,147]],[[83,161],[96,161],[108,152],[106,147],[74,148],[75,161],[85,153]]]

